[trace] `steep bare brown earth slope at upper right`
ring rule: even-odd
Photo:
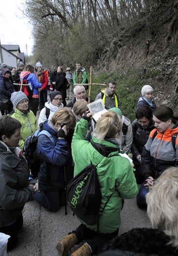
[[[149,24],[134,21],[127,33],[115,38],[103,51],[98,66],[107,73],[139,70],[142,85],[154,88],[154,99],[178,112],[178,0],[153,6]],[[129,86],[129,85],[128,85]],[[138,97],[140,92],[138,92]]]

